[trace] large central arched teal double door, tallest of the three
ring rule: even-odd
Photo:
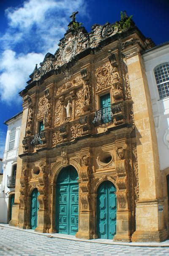
[[[56,230],[57,233],[75,235],[79,219],[79,179],[73,166],[67,166],[57,177]]]

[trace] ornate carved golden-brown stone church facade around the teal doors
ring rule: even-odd
[[[143,132],[139,137],[142,130],[135,123],[141,117],[137,115],[139,110],[134,110],[138,103],[133,101],[134,76],[130,76],[128,59],[140,56],[147,47],[146,38],[134,22],[125,31],[117,24],[95,24],[88,34],[78,24],[76,29],[72,22],[68,25],[59,49],[54,55],[46,54],[41,67],[35,68],[27,88],[20,93],[27,125],[22,130],[23,146],[19,152],[20,192],[10,223],[30,227],[31,193],[37,188],[40,194],[35,230],[58,232],[57,177],[68,166],[74,166],[79,184],[76,236],[101,237],[98,188],[109,182],[116,190],[114,240],[131,242],[134,233],[134,240],[142,241],[144,231],[136,231],[136,208],[138,204],[149,205],[148,199],[140,198],[144,175],[140,174],[143,160],[139,150],[144,141],[140,144],[139,140],[146,134]],[[137,67],[142,67],[141,60]],[[144,81],[142,69],[138,73]],[[140,94],[144,95],[147,85],[145,81],[142,84]],[[101,97],[105,95],[109,96],[110,104],[102,108]],[[139,93],[137,97],[139,101]],[[145,127],[149,119],[150,113]],[[44,127],[39,131],[41,122]],[[152,153],[151,162],[155,161],[154,156]],[[136,237],[136,232],[142,233],[142,237]],[[152,235],[147,241],[153,239]],[[155,239],[162,240],[158,235]]]

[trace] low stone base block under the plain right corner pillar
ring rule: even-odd
[[[135,231],[132,242],[162,242],[167,239],[166,229],[163,231]]]

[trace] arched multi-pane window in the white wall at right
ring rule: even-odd
[[[155,67],[154,74],[160,99],[169,97],[169,62]]]

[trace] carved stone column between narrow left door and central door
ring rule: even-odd
[[[40,186],[38,191],[39,210],[38,210],[38,226],[35,231],[46,233],[47,230],[47,205],[48,205],[48,186],[49,186],[49,164],[40,163],[40,174],[38,175],[38,181]]]

